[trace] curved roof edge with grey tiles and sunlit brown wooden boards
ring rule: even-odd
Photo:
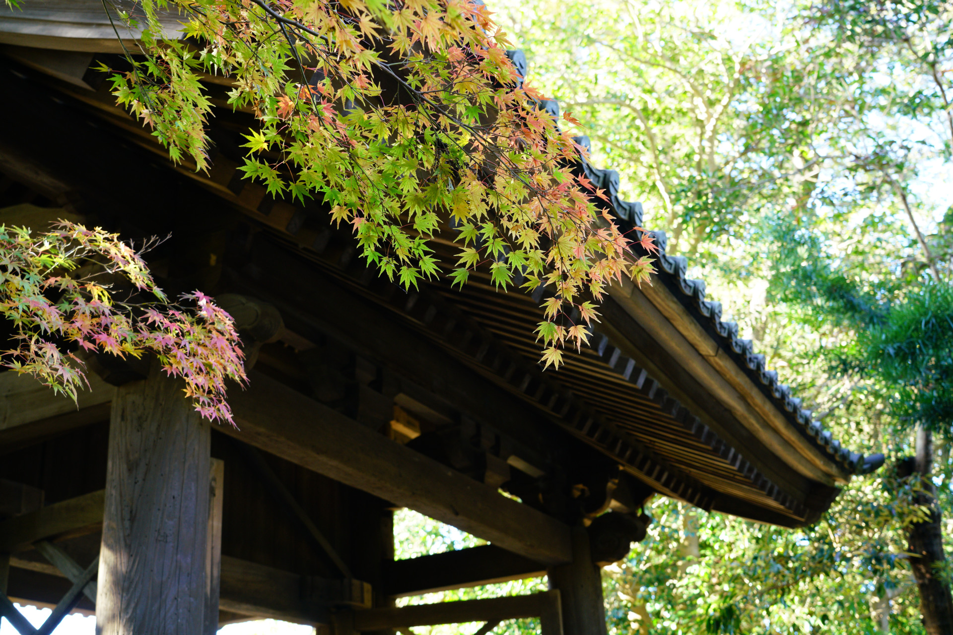
[[[547,108],[558,107],[551,102]],[[577,140],[588,147],[588,138]],[[575,169],[607,191],[609,203],[598,205],[616,217],[623,231],[634,231],[642,225],[641,204],[618,197],[618,172],[598,169],[585,161]],[[624,284],[610,290],[612,297],[633,319],[651,328],[686,367],[693,368],[742,426],[805,477],[832,486],[846,483],[852,474],[876,469],[881,457],[865,459],[861,453],[850,451],[813,420],[811,410],[802,408],[790,387],[779,382],[777,371],[766,367],[764,355],[754,351],[750,340],[738,336],[738,325],[721,320],[720,303],[705,299],[704,281],[686,277],[687,259],[665,253],[665,233],[654,233],[659,253],[655,255],[658,271],[652,276],[652,284],[642,288]],[[637,255],[652,255],[634,249]],[[659,322],[660,316],[664,324]]]

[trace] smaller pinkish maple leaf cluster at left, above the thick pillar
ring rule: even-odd
[[[0,314],[17,345],[0,359],[73,400],[87,384],[77,354],[153,353],[185,380],[203,417],[232,422],[225,381],[246,381],[232,318],[198,291],[180,302],[168,301],[140,254],[115,234],[67,221],[37,235],[0,226]]]

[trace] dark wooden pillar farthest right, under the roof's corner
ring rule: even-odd
[[[602,577],[589,550],[589,534],[572,530],[573,562],[551,566],[549,587],[559,590],[563,635],[606,635]]]

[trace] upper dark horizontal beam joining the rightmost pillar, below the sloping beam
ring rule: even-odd
[[[546,574],[546,567],[496,545],[446,551],[385,563],[384,593],[422,595],[451,588],[492,585]]]

